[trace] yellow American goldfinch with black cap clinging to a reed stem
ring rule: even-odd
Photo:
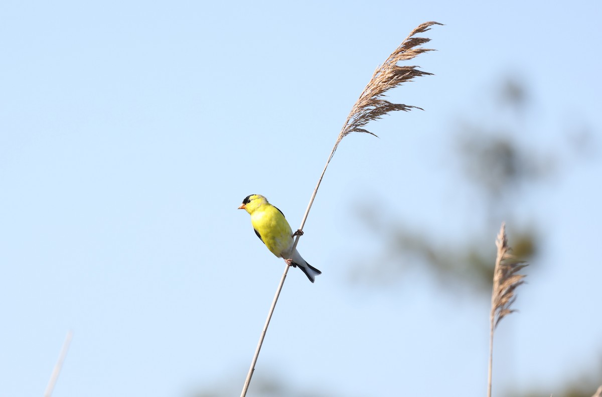
[[[251,216],[251,224],[255,234],[259,237],[267,249],[278,258],[283,258],[289,266],[297,267],[303,270],[303,273],[312,283],[320,270],[311,266],[305,261],[293,248],[293,234],[290,225],[284,217],[281,210],[270,204],[264,196],[250,195],[243,200],[243,205],[239,210],[246,210]],[[303,232],[301,232],[303,233]]]

